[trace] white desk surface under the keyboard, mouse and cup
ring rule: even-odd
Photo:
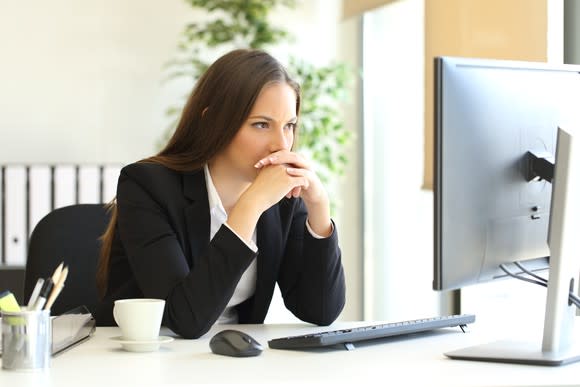
[[[562,367],[451,360],[444,352],[489,341],[477,323],[459,329],[359,343],[353,351],[330,349],[288,351],[269,349],[269,339],[369,323],[337,322],[330,328],[308,324],[220,325],[197,340],[176,338],[157,352],[132,353],[111,340],[118,328],[97,328],[81,345],[52,359],[46,372],[0,371],[2,386],[292,384],[398,386],[571,385],[579,383],[580,363]],[[265,349],[258,357],[214,355],[209,340],[221,329],[241,329]],[[165,328],[163,335],[171,335]],[[500,337],[495,336],[495,339]],[[391,382],[391,383],[389,383]]]

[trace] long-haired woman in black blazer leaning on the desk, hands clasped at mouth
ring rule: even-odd
[[[328,196],[292,152],[300,89],[270,55],[235,50],[199,79],[173,137],[121,171],[103,235],[100,325],[114,300],[162,298],[185,338],[286,307],[328,325],[345,302]]]

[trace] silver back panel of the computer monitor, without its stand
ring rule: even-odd
[[[546,269],[551,182],[528,179],[528,151],[554,159],[578,114],[576,67],[435,60],[434,281],[437,290]]]

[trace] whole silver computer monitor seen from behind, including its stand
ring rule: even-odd
[[[568,297],[578,286],[580,235],[573,232],[580,222],[564,216],[580,198],[571,194],[580,171],[567,178],[577,163],[568,131],[578,127],[579,112],[580,66],[435,58],[433,288],[506,278],[502,266],[525,275],[513,262],[550,274],[542,343],[499,342],[449,357],[580,360],[570,345],[575,307]]]

